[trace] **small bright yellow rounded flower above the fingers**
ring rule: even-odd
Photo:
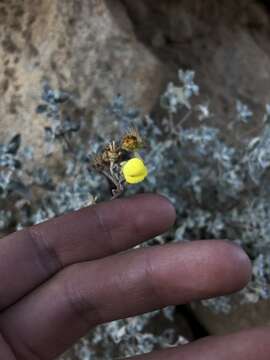
[[[140,183],[148,175],[147,167],[139,158],[133,158],[125,162],[122,166],[122,172],[128,184]]]

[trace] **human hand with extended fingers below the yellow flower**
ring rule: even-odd
[[[0,355],[49,360],[91,327],[234,292],[251,265],[227,241],[128,250],[167,230],[172,205],[139,195],[82,209],[0,241]],[[270,358],[270,331],[208,337],[138,360]]]

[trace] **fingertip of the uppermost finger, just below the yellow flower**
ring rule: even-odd
[[[102,219],[107,233],[110,231],[110,241],[119,251],[166,232],[176,217],[170,201],[148,193],[100,203],[94,213]]]

